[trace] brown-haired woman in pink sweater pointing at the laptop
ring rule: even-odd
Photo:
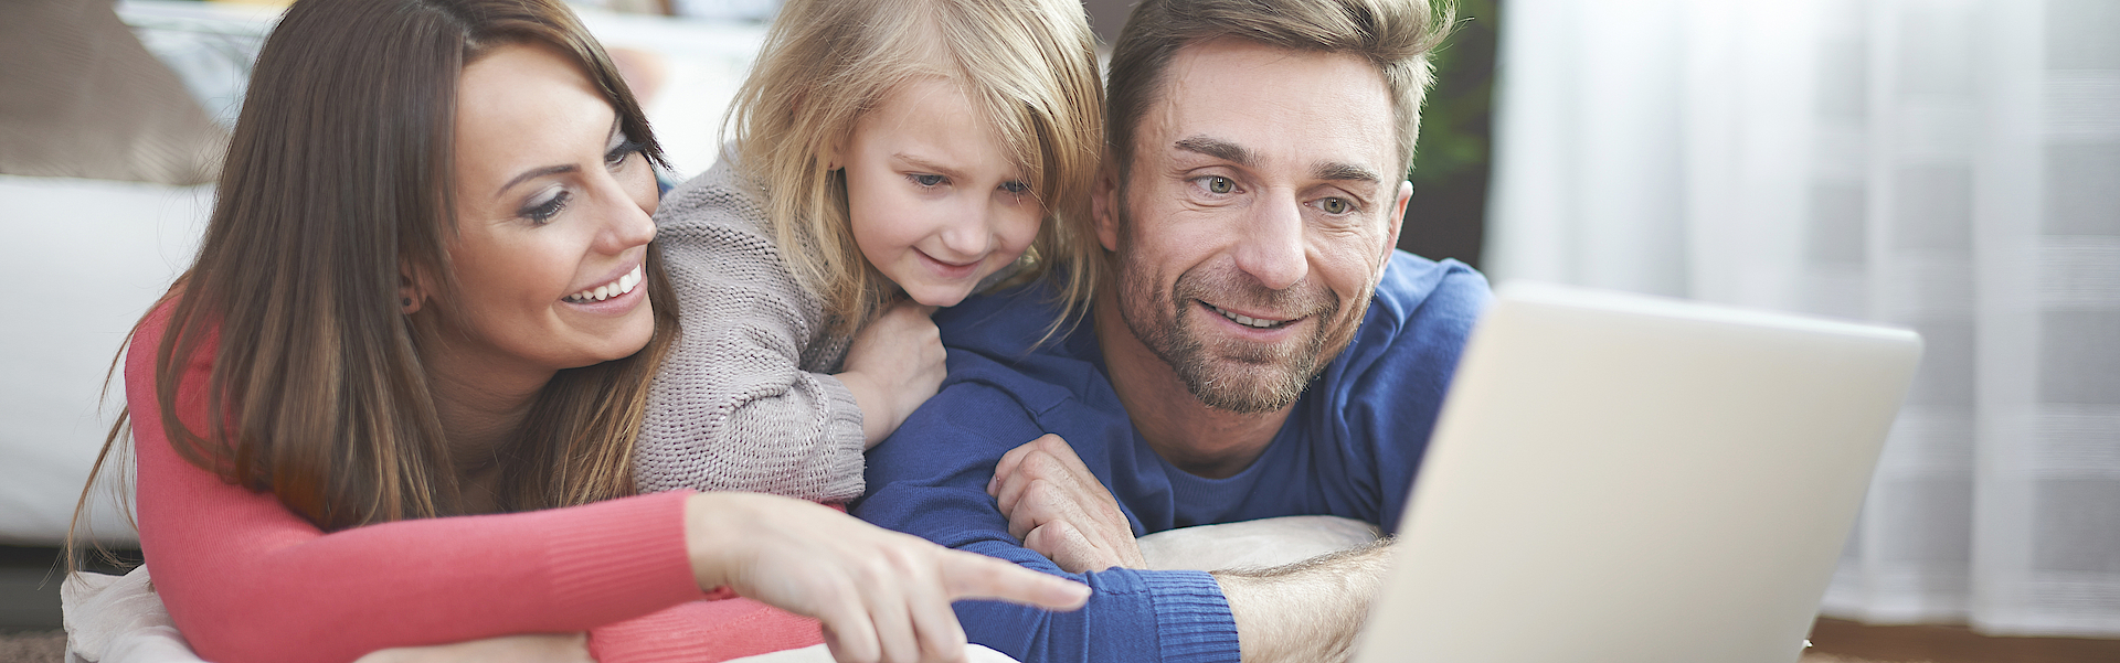
[[[288,8],[197,261],[125,358],[140,546],[201,657],[587,631],[494,642],[954,661],[954,597],[1081,606],[810,502],[632,496],[676,337],[657,159],[558,0]]]

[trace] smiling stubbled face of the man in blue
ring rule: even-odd
[[[1204,405],[1270,413],[1355,337],[1399,239],[1391,97],[1353,55],[1185,47],[1096,195],[1126,326]]]

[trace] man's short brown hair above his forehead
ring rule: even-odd
[[[1170,57],[1187,44],[1240,38],[1308,53],[1367,59],[1391,93],[1399,172],[1414,159],[1420,100],[1435,78],[1429,53],[1450,32],[1454,6],[1429,0],[1143,0],[1111,51],[1105,136],[1119,180],[1134,159],[1134,129],[1162,93]]]

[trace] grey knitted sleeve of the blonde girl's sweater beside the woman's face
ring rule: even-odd
[[[861,496],[861,407],[827,375],[848,341],[827,337],[823,303],[789,273],[761,203],[723,159],[655,214],[683,335],[634,447],[642,491]]]

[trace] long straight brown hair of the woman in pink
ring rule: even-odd
[[[418,273],[454,292],[458,78],[507,44],[572,57],[625,136],[661,161],[640,104],[560,0],[301,0],[286,11],[252,70],[199,254],[157,305],[170,307],[167,330],[134,345],[155,352],[161,422],[151,426],[163,426],[184,460],[271,491],[326,532],[462,513],[399,286]],[[505,510],[634,491],[630,455],[649,379],[676,339],[655,246],[647,267],[653,339],[545,386],[515,443],[496,453]],[[206,411],[225,415],[191,430],[176,394],[199,352],[214,358]],[[81,504],[125,419],[104,441]],[[76,506],[76,527],[83,517]]]

